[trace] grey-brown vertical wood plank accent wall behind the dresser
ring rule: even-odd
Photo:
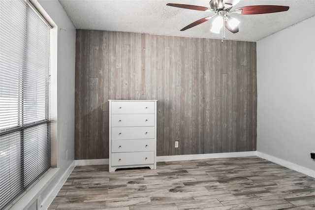
[[[256,150],[256,43],[77,30],[75,159],[108,158],[108,99],[158,100],[158,156]]]

